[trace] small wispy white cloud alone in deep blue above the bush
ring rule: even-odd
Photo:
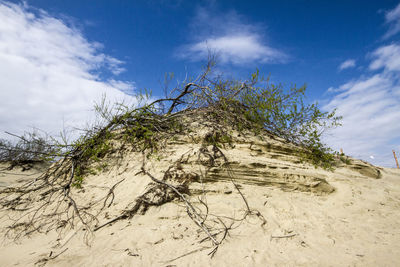
[[[211,14],[199,8],[191,25],[196,40],[179,49],[178,56],[198,61],[209,51],[216,53],[221,63],[279,63],[287,55],[266,44],[262,27],[246,24],[236,12]]]

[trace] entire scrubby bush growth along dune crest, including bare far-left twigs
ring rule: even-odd
[[[214,75],[214,61],[209,60],[205,71],[195,79],[187,79],[167,93],[165,98],[151,103],[151,95],[139,93],[139,107],[121,103],[109,105],[105,99],[95,106],[102,120],[92,126],[72,144],[50,145],[37,134],[20,137],[15,145],[0,141],[0,160],[54,160],[69,157],[79,166],[79,177],[84,175],[90,162],[98,161],[112,151],[109,140],[114,130],[121,130],[124,142],[136,150],[158,149],[160,140],[182,132],[184,126],[178,118],[185,111],[207,110],[210,120],[220,126],[244,129],[258,134],[268,131],[287,142],[299,146],[299,155],[306,161],[325,169],[332,168],[332,151],[322,143],[323,132],[340,125],[335,111],[322,112],[317,103],[306,104],[306,86],[285,90],[281,84],[272,84],[260,78],[256,71],[249,80],[225,79]],[[168,92],[168,90],[166,90]],[[229,133],[221,139],[230,142]],[[215,138],[214,138],[215,139]],[[221,140],[209,140],[220,142]]]

